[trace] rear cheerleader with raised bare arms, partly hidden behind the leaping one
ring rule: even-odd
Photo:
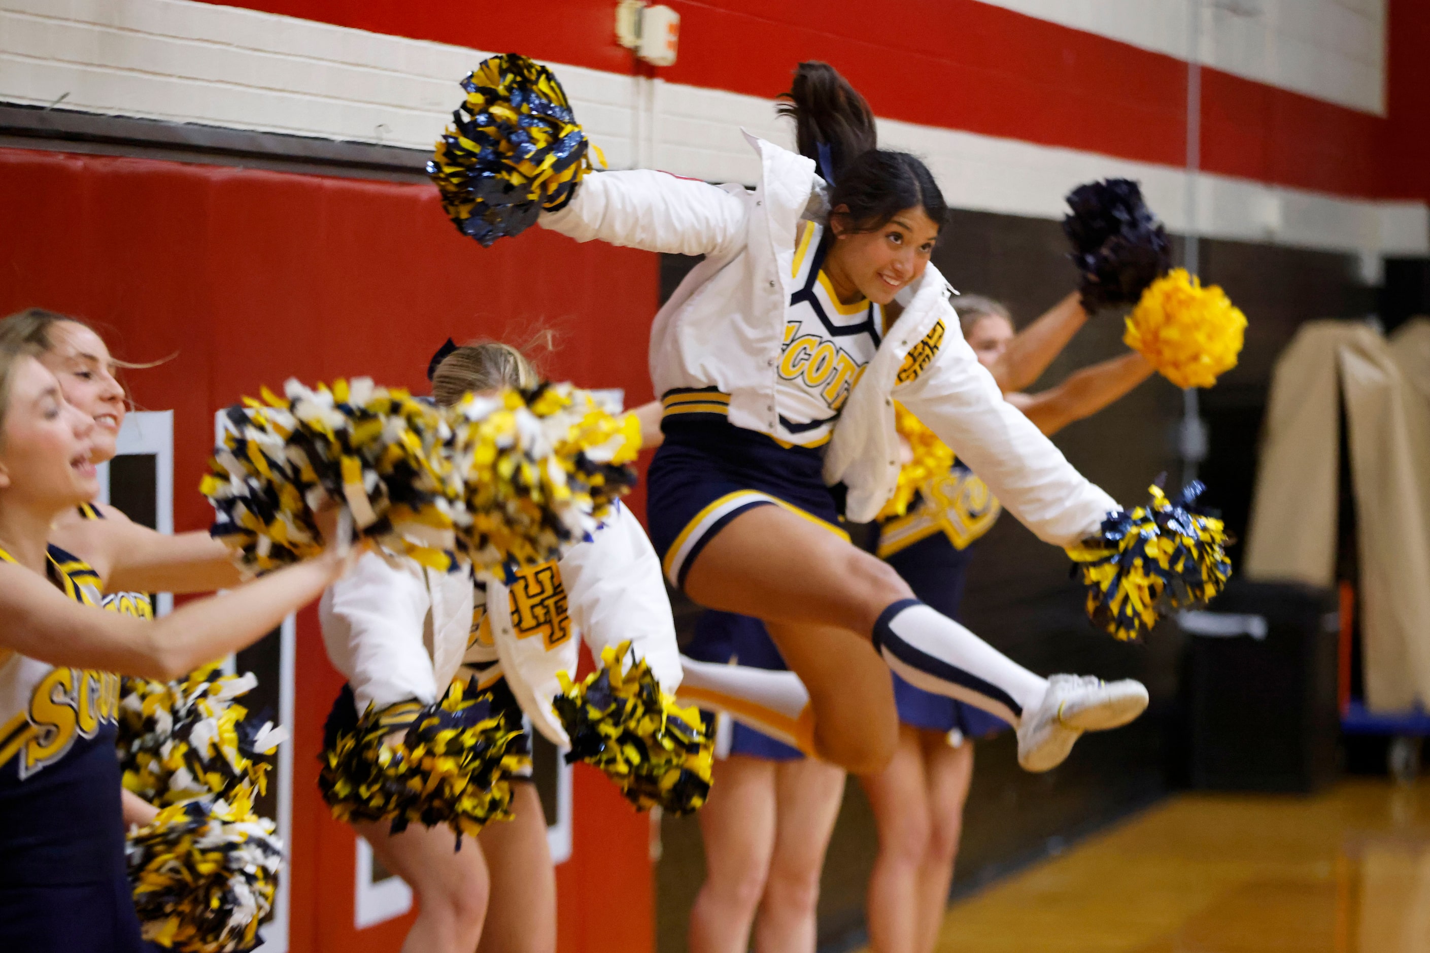
[[[1018,333],[1008,311],[987,298],[960,296],[958,319],[1007,401],[1048,435],[1091,416],[1153,373],[1145,358],[1127,353],[1077,371],[1041,394],[1018,392],[1087,321],[1075,293]],[[907,515],[882,521],[878,555],[918,598],[957,618],[972,544],[992,528],[998,514],[997,498],[955,462],[951,472],[924,484]],[[917,953],[934,949],[948,901],[972,780],[972,741],[1008,725],[962,701],[927,693],[897,673],[894,698],[899,714],[894,760],[859,778],[879,831],[867,922],[871,949]]]

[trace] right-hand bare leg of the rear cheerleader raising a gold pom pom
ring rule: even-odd
[[[917,953],[934,953],[938,930],[948,909],[948,887],[954,881],[954,861],[964,830],[964,803],[974,778],[974,744],[964,740],[957,748],[938,731],[919,731],[924,748],[924,774],[932,827],[918,877],[922,936]]]

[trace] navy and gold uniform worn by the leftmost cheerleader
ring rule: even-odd
[[[0,551],[0,561],[14,562]],[[50,581],[84,605],[99,575],[49,548]],[[0,622],[3,624],[3,622]],[[0,944],[146,950],[124,873],[114,754],[119,675],[0,660]]]

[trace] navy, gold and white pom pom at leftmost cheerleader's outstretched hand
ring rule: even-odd
[[[462,482],[450,472],[442,412],[368,378],[310,391],[289,381],[226,411],[227,431],[199,489],[216,509],[210,532],[240,562],[266,571],[317,555],[313,514],[350,511],[359,535],[425,565],[453,568]]]

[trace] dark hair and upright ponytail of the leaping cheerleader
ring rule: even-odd
[[[795,145],[829,183],[829,218],[844,230],[872,232],[914,206],[942,230],[948,205],[934,175],[918,156],[878,147],[874,112],[838,70],[801,63],[781,99],[778,112],[795,120]]]

